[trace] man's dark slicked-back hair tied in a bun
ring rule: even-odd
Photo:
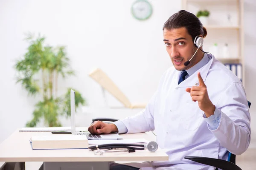
[[[203,27],[198,17],[185,10],[180,10],[177,13],[173,14],[163,25],[163,29],[166,28],[168,30],[182,27],[185,27],[187,29],[193,41],[198,35],[202,35],[203,38],[207,35],[207,31]]]

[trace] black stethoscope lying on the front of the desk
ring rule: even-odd
[[[158,148],[157,142],[151,141],[147,144],[96,144],[88,149],[93,150],[95,155],[102,155],[104,152],[135,152],[135,150],[148,150],[155,152]]]

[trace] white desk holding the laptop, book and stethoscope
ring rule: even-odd
[[[87,130],[87,128],[82,128]],[[29,143],[32,135],[59,135],[50,132],[18,132],[16,130],[5,141],[0,144],[0,161],[18,162],[21,170],[25,169],[26,161],[44,162],[87,162],[90,166],[99,165],[106,167],[110,161],[166,161],[168,155],[160,148],[151,153],[148,150],[136,150],[134,153],[104,153],[95,155],[88,149],[68,149],[68,150],[32,150]],[[71,134],[66,134],[71,135]],[[124,139],[144,138],[152,140],[152,136],[146,133],[122,134]],[[153,139],[154,140],[154,139]],[[17,166],[17,164],[16,164]],[[17,168],[17,167],[16,167]],[[9,168],[11,169],[11,168]],[[94,168],[97,169],[97,168]],[[15,169],[16,170],[16,169]]]

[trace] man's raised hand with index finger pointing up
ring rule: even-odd
[[[192,86],[192,88],[186,88],[186,92],[190,93],[190,96],[194,102],[198,101],[199,108],[204,111],[205,116],[209,117],[214,114],[215,105],[209,99],[207,87],[204,84],[204,80],[201,74],[198,72],[198,86]]]

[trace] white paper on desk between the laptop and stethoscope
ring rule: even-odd
[[[148,143],[146,139],[88,140],[89,144]]]

